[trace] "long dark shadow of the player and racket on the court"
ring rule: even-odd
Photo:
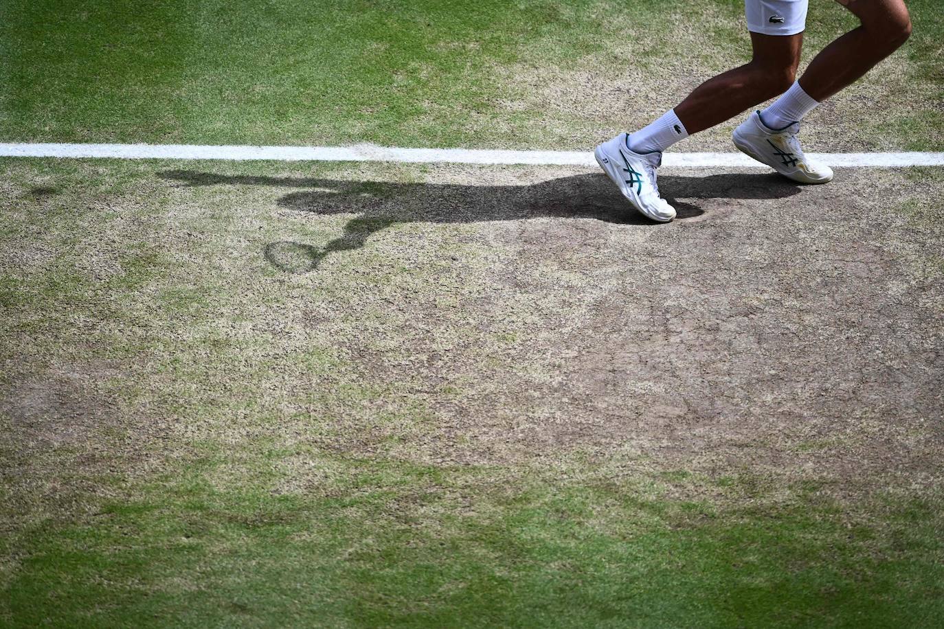
[[[265,247],[265,257],[284,271],[305,273],[332,254],[363,246],[373,234],[395,223],[474,223],[538,217],[596,219],[608,223],[657,225],[629,207],[604,174],[575,174],[530,185],[344,181],[314,177],[228,175],[196,171],[164,171],[160,176],[194,186],[274,186],[300,188],[278,199],[278,206],[314,214],[356,214],[344,233],[325,245],[278,240]],[[685,199],[777,199],[800,187],[777,174],[663,175],[662,190],[678,212],[677,221],[693,219],[703,210]]]

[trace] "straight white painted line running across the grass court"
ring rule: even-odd
[[[835,168],[944,166],[944,153],[810,153]],[[354,146],[234,146],[198,144],[0,143],[0,157],[112,157],[120,159],[270,159],[277,161],[396,161],[409,163],[595,166],[590,151]],[[740,153],[666,153],[669,168],[767,168]]]

